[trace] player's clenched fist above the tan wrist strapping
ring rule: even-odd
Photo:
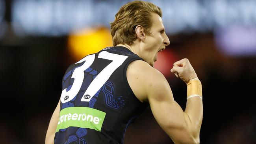
[[[188,83],[190,79],[197,78],[197,74],[188,59],[182,59],[173,63],[171,72],[174,73],[177,78],[180,77],[185,83]]]

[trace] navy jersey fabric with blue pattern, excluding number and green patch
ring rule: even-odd
[[[60,105],[60,110],[68,107],[89,107],[105,112],[106,118],[102,124],[101,131],[75,126],[59,129],[54,138],[55,144],[121,144],[123,143],[127,126],[148,106],[148,104],[141,103],[137,100],[128,85],[126,76],[124,77],[126,73],[123,73],[126,71],[129,63],[137,59],[143,59],[124,47],[108,47],[102,51],[108,51],[117,55],[126,55],[128,59],[114,71],[89,102],[83,102],[81,99],[91,82],[100,74],[103,68],[111,63],[111,61],[106,59],[95,59],[93,64],[83,71],[83,83],[76,96],[68,102],[61,102]],[[96,53],[95,57],[98,57],[100,52]],[[63,90],[67,89],[68,92],[72,88],[74,83],[72,74],[76,68],[79,68],[85,62],[70,65],[63,76]],[[122,111],[125,111],[125,113],[122,113]]]

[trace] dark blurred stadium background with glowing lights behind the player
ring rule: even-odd
[[[111,46],[109,22],[128,0],[0,0],[0,139],[43,144],[66,68]],[[202,144],[256,144],[256,0],[150,0],[171,44],[155,68],[186,107],[186,85],[169,72],[188,58],[202,81]],[[125,144],[172,144],[150,109]]]

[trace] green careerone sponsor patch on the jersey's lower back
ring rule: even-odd
[[[106,113],[90,107],[67,107],[59,113],[56,132],[67,127],[81,127],[100,131]]]

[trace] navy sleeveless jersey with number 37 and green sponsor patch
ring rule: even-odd
[[[126,128],[148,106],[126,70],[143,60],[122,46],[104,48],[69,66],[63,81],[55,144],[122,144]]]

